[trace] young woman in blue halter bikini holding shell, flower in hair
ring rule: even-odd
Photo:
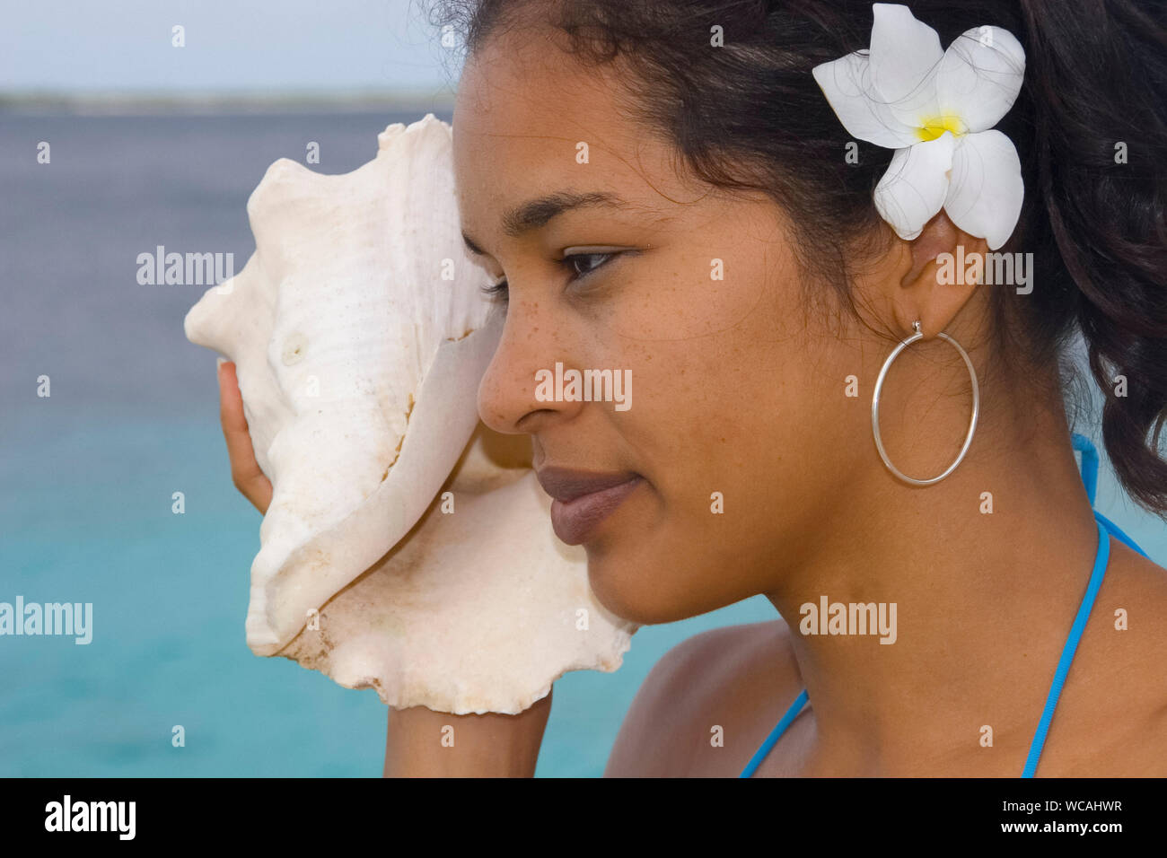
[[[616,614],[671,622],[762,593],[783,618],[670,651],[607,774],[1167,774],[1167,573],[1093,515],[1063,360],[1081,332],[1114,470],[1167,511],[1162,12],[438,12],[467,36],[463,233],[506,304],[483,421],[531,435],[555,530]],[[901,153],[881,134],[904,117],[876,98],[864,126],[851,67],[822,67],[869,49],[854,62],[883,95],[931,79],[913,21],[984,79],[950,79],[966,112],[941,105]],[[993,91],[1018,51],[1019,91]],[[1000,158],[972,139],[990,127]],[[1004,263],[990,282],[959,261],[991,251],[1015,264],[1007,282]],[[557,362],[630,370],[634,406],[537,398]],[[222,382],[236,484],[264,509],[230,364]],[[834,604],[878,606],[881,634]],[[530,775],[550,705],[391,711],[385,773]],[[456,754],[434,740],[452,721]]]

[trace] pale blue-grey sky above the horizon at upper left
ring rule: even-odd
[[[431,93],[439,36],[418,0],[0,0],[0,92]]]

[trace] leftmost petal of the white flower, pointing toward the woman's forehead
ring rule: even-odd
[[[816,65],[811,74],[851,137],[888,149],[918,142],[915,130],[899,121],[871,82],[866,54],[848,54]]]

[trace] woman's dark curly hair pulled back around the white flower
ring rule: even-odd
[[[1000,251],[1030,251],[1039,278],[1027,295],[993,290],[994,354],[1014,377],[1064,389],[1081,381],[1067,354],[1081,332],[1114,470],[1139,504],[1167,515],[1167,4],[910,7],[944,46],[988,23],[1025,47],[1025,84],[997,127],[1016,146],[1026,195]],[[850,135],[811,69],[867,47],[868,0],[445,0],[428,20],[452,26],[468,53],[502,30],[550,25],[582,62],[626,63],[629,114],[700,179],[770,195],[791,215],[803,268],[857,312],[854,266],[889,235],[872,191],[892,152],[858,141],[858,165],[845,162]],[[725,46],[710,50],[714,26]]]

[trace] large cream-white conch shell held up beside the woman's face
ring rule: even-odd
[[[378,135],[344,175],[273,163],[256,252],[187,315],[235,361],[272,482],[247,644],[390,706],[517,713],[568,670],[620,667],[636,626],[555,538],[530,439],[478,423],[502,316],[454,191],[452,128]]]

